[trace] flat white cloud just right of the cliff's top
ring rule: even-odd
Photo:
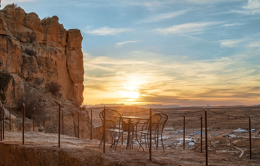
[[[110,27],[102,27],[95,30],[90,30],[90,27],[86,27],[85,33],[93,34],[93,35],[100,35],[100,36],[107,36],[107,35],[118,35],[119,33],[131,31],[130,28],[110,28]]]

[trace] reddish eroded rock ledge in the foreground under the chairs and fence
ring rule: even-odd
[[[152,150],[126,150],[118,144],[117,150],[106,146],[98,147],[100,140],[77,139],[61,135],[58,148],[58,135],[48,133],[25,133],[25,145],[22,145],[21,132],[5,132],[4,141],[0,142],[0,165],[205,165],[205,154],[182,149],[162,148]],[[209,153],[209,165],[258,165],[259,161],[242,159],[236,156],[223,156]]]

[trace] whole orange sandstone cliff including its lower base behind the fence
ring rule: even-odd
[[[36,13],[26,13],[14,4],[7,5],[0,12],[0,92],[6,98],[4,105],[14,107],[17,99],[33,97],[39,104],[36,131],[57,133],[57,103],[61,101],[75,107],[83,102],[83,38],[80,30],[66,31],[57,16],[41,20]],[[31,34],[35,34],[32,40]],[[61,85],[61,95],[53,96],[45,88],[51,81]],[[62,104],[67,112],[64,134],[77,136],[75,112],[78,110],[69,106]],[[21,112],[11,111],[17,117],[11,121],[11,130],[21,131]],[[89,138],[89,116],[85,111],[81,113],[80,138]],[[32,131],[33,121],[26,118],[25,122],[25,130]],[[5,123],[8,130],[9,121]]]

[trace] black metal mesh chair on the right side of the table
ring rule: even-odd
[[[135,132],[136,132],[136,139],[138,141],[138,138],[137,138],[137,133],[141,133],[141,138],[140,140],[142,140],[142,135],[144,134],[144,138],[146,138],[145,136],[147,135],[147,138],[148,138],[148,135],[150,134],[150,128],[149,128],[149,123],[150,123],[150,120],[152,121],[152,135],[157,135],[157,143],[156,143],[156,140],[155,140],[155,145],[156,145],[156,149],[158,147],[158,137],[159,135],[161,135],[161,141],[162,141],[162,145],[163,145],[163,128],[164,128],[164,125],[166,123],[166,121],[168,120],[168,115],[164,114],[164,113],[157,113],[157,114],[154,114],[152,115],[151,119],[149,118],[149,120],[145,121],[145,122],[137,122],[134,127],[135,127]],[[138,124],[141,124],[141,127],[139,125],[139,128],[138,128]],[[149,139],[147,139],[148,141],[148,148],[149,147]],[[150,140],[152,141],[152,140]],[[141,143],[138,141],[138,143],[140,144],[139,148],[143,146],[141,145]],[[145,139],[145,146],[146,146],[146,139]],[[163,151],[164,151],[164,146],[163,146]]]

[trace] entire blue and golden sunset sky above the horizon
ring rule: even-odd
[[[86,104],[260,104],[260,0],[15,2],[81,31]]]

